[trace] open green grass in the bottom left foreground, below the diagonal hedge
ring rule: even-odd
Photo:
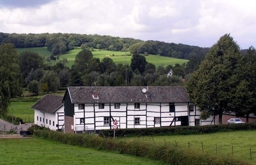
[[[1,165],[166,165],[145,158],[102,152],[39,138],[1,139]]]

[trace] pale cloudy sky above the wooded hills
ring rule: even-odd
[[[0,0],[0,32],[79,33],[211,47],[230,33],[256,47],[253,0]]]

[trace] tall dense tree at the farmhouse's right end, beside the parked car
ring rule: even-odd
[[[222,114],[233,111],[240,67],[239,46],[225,34],[210,48],[186,87],[191,101],[200,107],[202,119],[219,115],[219,123],[222,123]]]

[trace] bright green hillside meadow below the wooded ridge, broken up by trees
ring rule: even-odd
[[[73,49],[70,50],[68,52],[66,52],[63,55],[60,55],[60,59],[63,58],[67,58],[68,59],[68,67],[71,67],[74,64],[75,61],[75,56],[78,52],[80,52],[82,49]],[[23,52],[23,51],[33,51],[33,52],[37,52],[39,55],[43,56],[43,57],[47,57],[51,55],[51,52],[47,50],[46,47],[42,47],[42,48],[19,48],[17,49],[18,53]],[[107,50],[102,50],[99,51],[97,49],[94,49],[94,51],[92,51],[92,54],[94,57],[99,58],[100,60],[102,60],[104,57],[110,57],[113,59],[113,61],[115,63],[122,63],[122,64],[131,64],[131,58],[132,56],[130,55],[130,52],[112,52],[112,51],[107,51]],[[114,54],[114,56],[113,56]],[[178,58],[171,58],[171,57],[164,57],[164,56],[159,56],[159,55],[148,55],[145,56],[146,60],[148,62],[151,62],[153,64],[155,64],[156,66],[159,65],[175,65],[176,63],[179,64],[183,64],[188,62],[188,60],[186,59],[178,59]],[[53,65],[55,63],[57,63],[58,60],[56,61],[51,61],[51,62],[45,62],[47,64]]]

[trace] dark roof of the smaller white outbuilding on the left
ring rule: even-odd
[[[32,105],[31,108],[48,113],[53,113],[63,105],[62,99],[62,96],[46,94],[38,102]]]

